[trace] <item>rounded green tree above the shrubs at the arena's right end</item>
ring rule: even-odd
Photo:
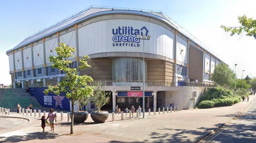
[[[211,75],[211,80],[215,85],[233,89],[235,86],[236,75],[226,64],[221,63],[215,67],[214,73]]]

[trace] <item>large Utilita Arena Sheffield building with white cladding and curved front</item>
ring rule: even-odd
[[[193,108],[222,62],[161,11],[90,6],[6,51],[13,87],[46,87],[61,81],[65,75],[49,61],[59,42],[76,48],[71,59],[75,66],[80,57],[89,55],[92,68],[80,74],[107,86],[113,111],[116,104],[121,108],[142,104],[143,55],[147,108]],[[88,111],[93,108],[88,104]]]

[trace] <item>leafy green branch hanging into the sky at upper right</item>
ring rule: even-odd
[[[240,26],[236,27],[227,27],[222,25],[221,28],[225,32],[231,32],[231,36],[234,34],[240,35],[243,32],[246,32],[246,36],[253,36],[256,39],[256,20],[252,18],[247,18],[246,15],[238,16]]]

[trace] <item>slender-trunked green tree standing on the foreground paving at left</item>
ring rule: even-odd
[[[74,57],[74,47],[69,47],[65,43],[59,43],[59,47],[56,47],[55,50],[58,56],[50,56],[50,62],[52,62],[53,68],[59,68],[61,71],[63,71],[65,77],[64,80],[61,80],[60,83],[58,83],[58,85],[49,85],[48,89],[46,89],[44,93],[46,95],[48,95],[48,93],[60,95],[60,92],[63,92],[65,93],[65,96],[70,100],[72,112],[70,134],[73,134],[74,103],[75,101],[86,101],[90,97],[90,95],[93,94],[94,90],[94,87],[90,87],[87,85],[87,82],[93,81],[90,76],[78,75],[79,70],[91,67],[86,61],[89,56],[83,56],[82,59],[79,61],[80,65],[78,66],[78,68],[76,68],[70,60],[72,57]]]

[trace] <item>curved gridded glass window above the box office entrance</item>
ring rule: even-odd
[[[145,60],[145,80],[147,75]],[[112,60],[112,80],[115,82],[143,82],[143,59],[119,57]]]

